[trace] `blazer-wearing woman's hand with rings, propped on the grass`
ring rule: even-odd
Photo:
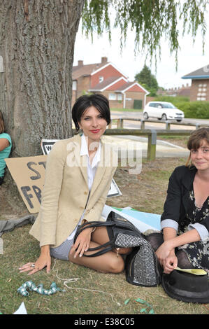
[[[50,256],[49,246],[41,247],[41,255],[36,260],[36,262],[27,262],[27,264],[24,264],[19,269],[20,269],[20,273],[30,271],[28,275],[31,275],[38,271],[41,271],[41,269],[43,269],[44,267],[46,267],[46,272],[49,273],[51,268],[51,256]]]

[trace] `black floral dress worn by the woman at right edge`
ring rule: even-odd
[[[203,206],[198,208],[195,204],[194,190],[191,190],[189,192],[187,216],[184,221],[181,221],[178,234],[186,232],[189,224],[201,223],[203,219],[206,220],[207,218],[209,221],[209,196]],[[205,269],[209,275],[209,237],[201,241],[184,244],[178,248],[187,253],[189,261],[194,267]]]

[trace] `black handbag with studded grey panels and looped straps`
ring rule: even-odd
[[[87,257],[102,255],[113,248],[132,248],[125,260],[127,282],[137,286],[157,286],[161,282],[161,267],[149,241],[126,218],[111,211],[105,222],[88,222],[80,225],[75,240],[85,228],[106,226],[110,241],[88,251],[96,251]]]

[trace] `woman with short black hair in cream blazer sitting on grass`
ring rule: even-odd
[[[73,105],[72,117],[82,134],[57,141],[48,155],[41,209],[30,230],[40,241],[41,255],[36,262],[20,267],[20,272],[33,274],[43,267],[49,272],[51,256],[99,272],[124,269],[124,260],[115,251],[96,258],[84,255],[91,253],[89,247],[109,240],[106,228],[83,230],[73,243],[80,223],[101,220],[117,166],[113,151],[101,140],[110,123],[108,99],[102,94],[81,96]]]

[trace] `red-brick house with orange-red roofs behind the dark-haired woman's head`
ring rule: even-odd
[[[102,93],[109,99],[110,108],[118,109],[134,109],[135,100],[143,109],[149,94],[136,81],[130,82],[115,64],[108,62],[107,57],[101,57],[101,63],[84,65],[78,61],[78,65],[73,66],[72,104],[88,92]]]

